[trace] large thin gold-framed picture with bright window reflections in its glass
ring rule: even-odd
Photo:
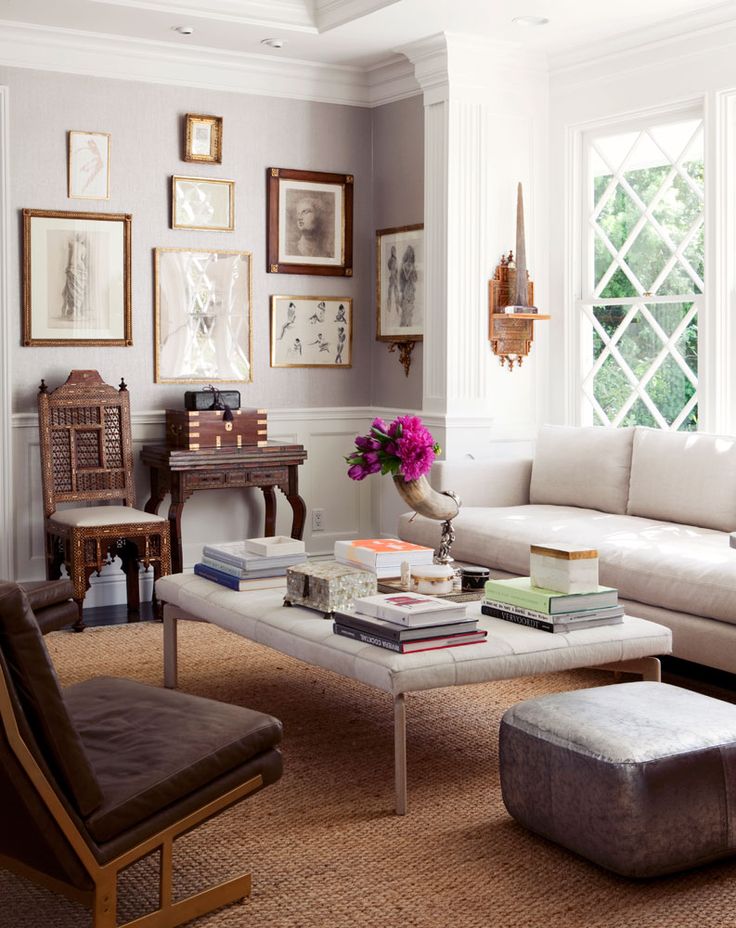
[[[250,383],[249,251],[154,249],[156,383]]]

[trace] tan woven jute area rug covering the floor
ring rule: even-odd
[[[160,685],[158,624],[55,632],[64,683],[113,674]],[[409,814],[393,814],[390,698],[206,625],[180,623],[180,686],[284,724],[284,776],[179,844],[177,888],[239,869],[243,905],[196,928],[729,928],[736,863],[633,882],[535,837],[506,813],[501,714],[521,699],[612,682],[579,671],[412,694]],[[0,827],[2,823],[0,822]],[[154,864],[121,881],[119,918],[154,898]],[[86,910],[0,872],[0,928],[82,928]]]

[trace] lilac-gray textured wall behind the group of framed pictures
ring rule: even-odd
[[[41,377],[50,386],[72,368],[97,368],[115,383],[124,376],[134,412],[180,407],[184,384],[153,383],[152,249],[192,247],[242,249],[253,253],[253,383],[239,389],[245,405],[278,407],[364,406],[371,401],[371,362],[375,343],[373,298],[372,113],[359,107],[264,98],[133,81],[50,74],[0,68],[0,83],[10,88],[11,209],[18,236],[11,236],[10,306],[16,311],[15,347],[11,352],[15,412],[35,410]],[[413,103],[413,101],[409,101]],[[390,135],[404,109],[416,119],[414,106],[399,105],[376,118],[382,139],[381,174],[387,202],[404,186],[404,165],[417,184],[412,153],[391,155]],[[184,113],[214,113],[224,119],[220,165],[181,160]],[[399,119],[400,122],[400,119]],[[66,195],[67,130],[112,133],[111,199],[70,200]],[[406,133],[406,129],[402,129]],[[388,170],[389,157],[394,159]],[[399,158],[398,162],[396,158]],[[268,166],[352,173],[355,176],[354,275],[352,279],[267,274],[266,183]],[[419,161],[421,168],[421,159]],[[385,168],[385,170],[384,170]],[[170,229],[172,174],[233,179],[235,232],[187,232]],[[419,178],[421,188],[421,178]],[[418,198],[421,204],[421,196]],[[131,348],[21,347],[20,210],[60,209],[120,212],[133,215],[133,341]],[[382,205],[385,224],[418,221],[397,209],[396,218]],[[269,296],[319,294],[353,296],[353,367],[350,370],[272,369],[269,366]],[[383,349],[385,351],[385,349]],[[382,359],[383,360],[383,359]],[[391,384],[397,378],[392,358]],[[384,379],[384,364],[378,369]],[[412,373],[412,380],[415,375]],[[403,373],[401,374],[403,379]],[[381,398],[390,392],[384,387]],[[421,391],[419,393],[421,395]],[[373,397],[374,401],[378,397]]]

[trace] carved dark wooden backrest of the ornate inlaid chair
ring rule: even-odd
[[[48,518],[60,502],[120,501],[135,506],[130,398],[97,371],[72,371],[38,393],[41,480]]]

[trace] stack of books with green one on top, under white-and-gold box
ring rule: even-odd
[[[545,632],[570,632],[623,622],[618,591],[597,586],[585,593],[561,593],[534,586],[531,577],[489,580],[481,604],[484,615]]]

